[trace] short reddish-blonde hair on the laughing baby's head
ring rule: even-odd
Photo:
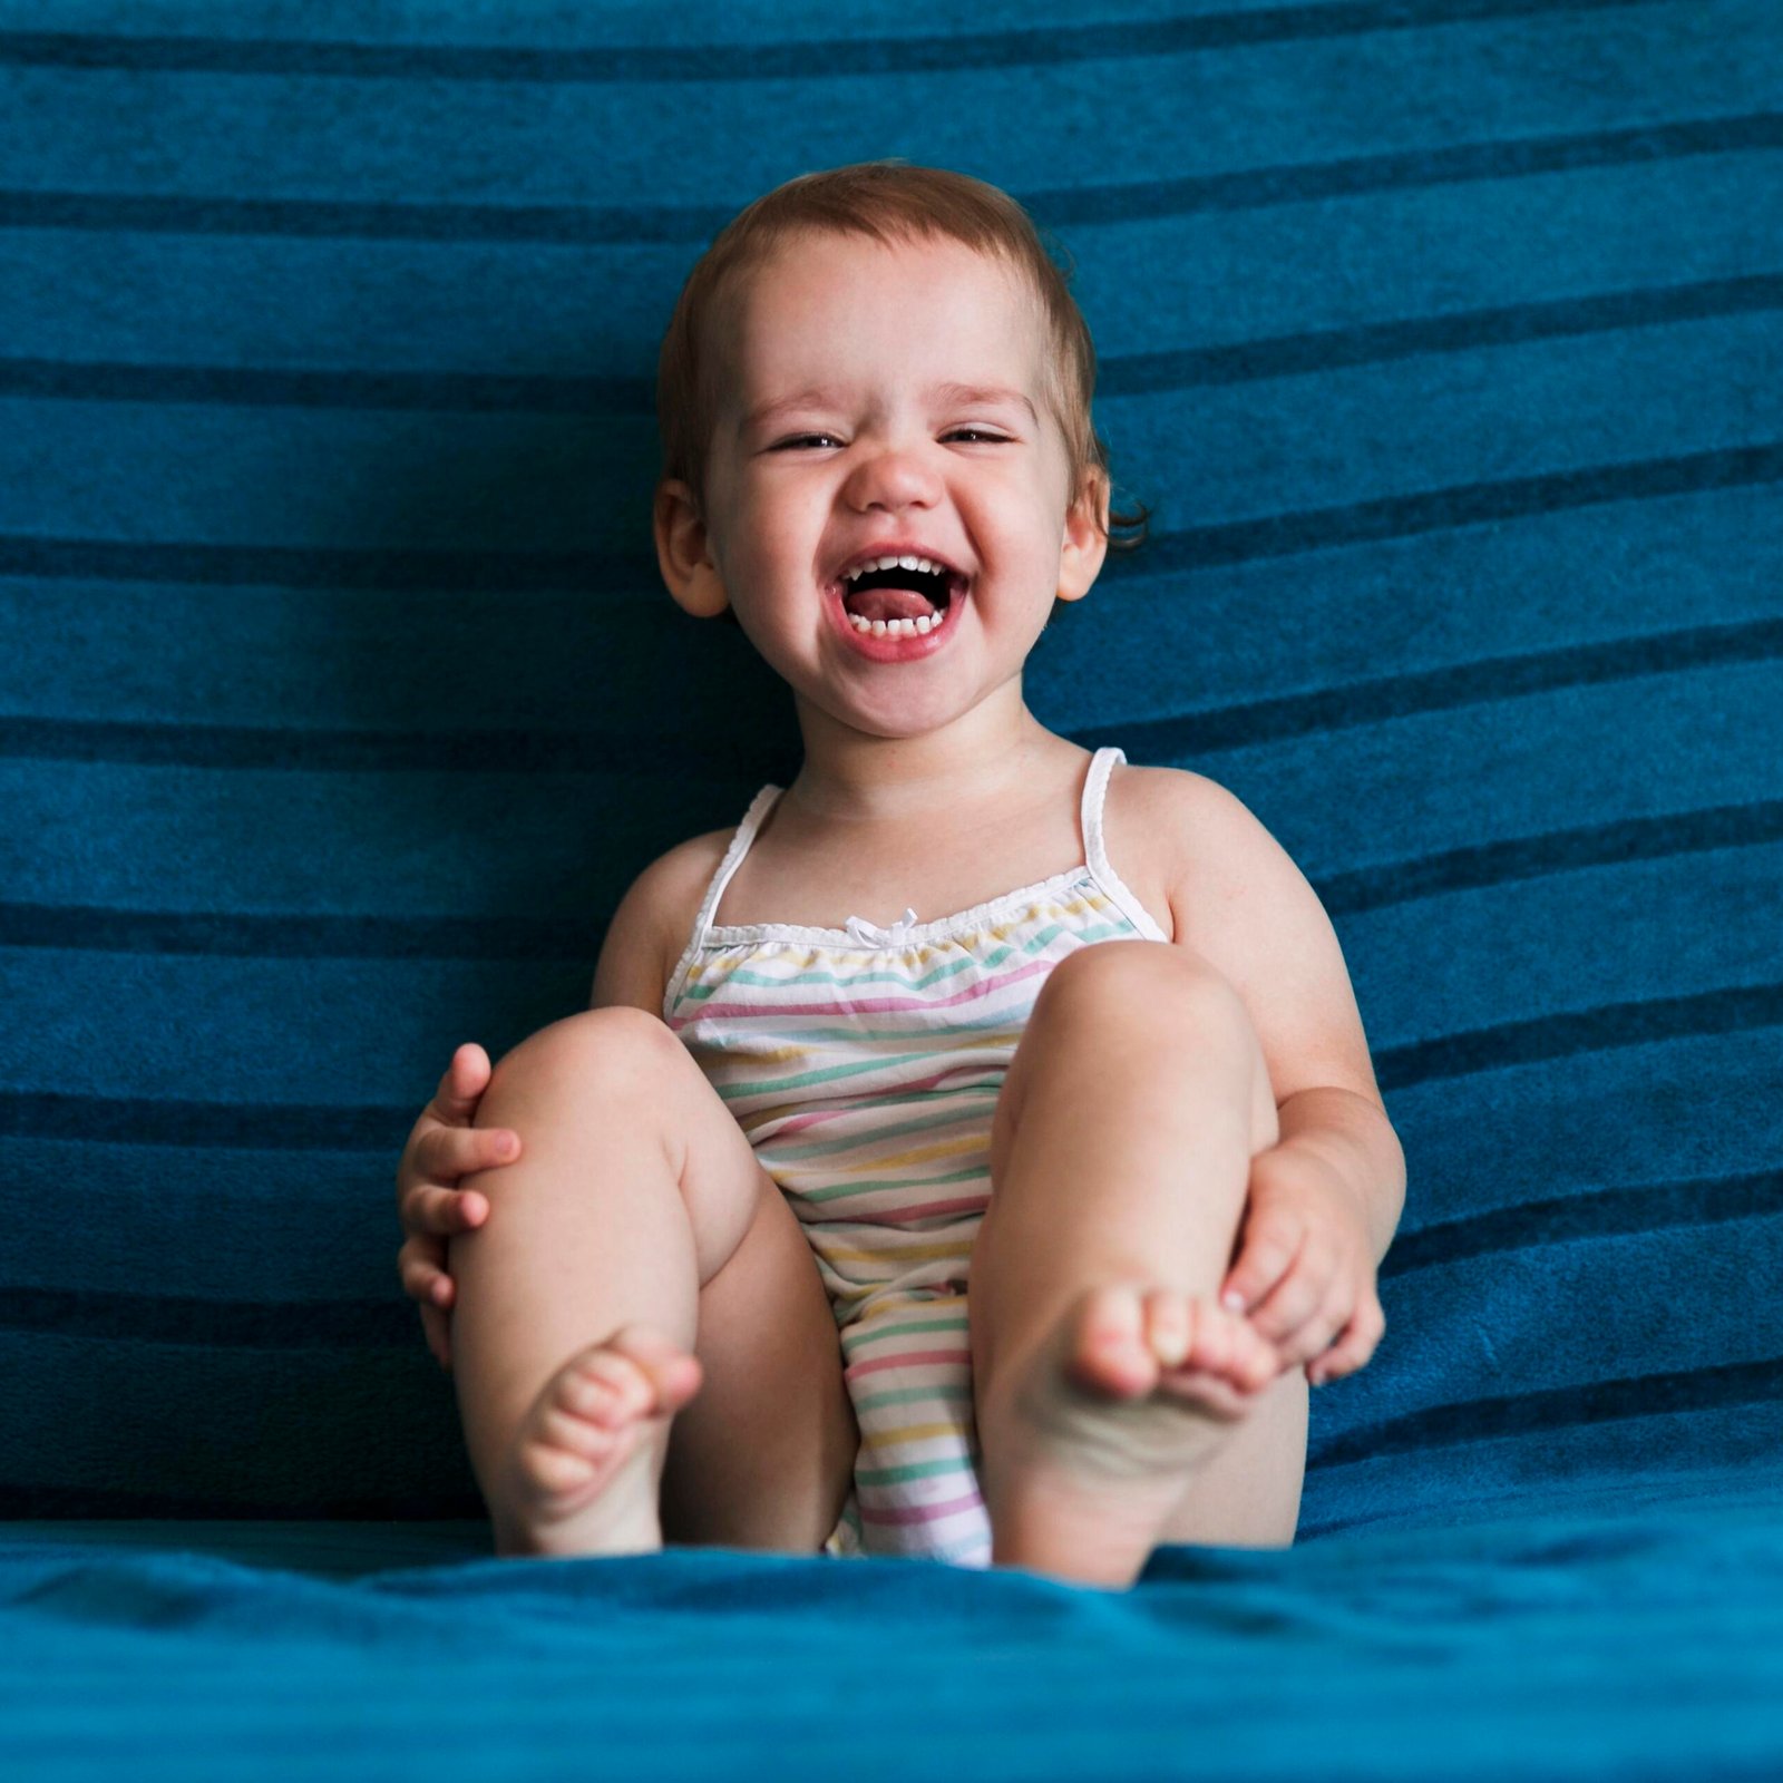
[[[740,210],[686,275],[656,364],[656,423],[663,442],[663,480],[694,490],[704,512],[706,453],[717,424],[717,378],[710,353],[711,317],[736,282],[772,251],[806,230],[867,235],[893,244],[911,237],[952,237],[975,253],[995,255],[1025,276],[1047,319],[1052,351],[1043,390],[1064,433],[1073,499],[1095,465],[1109,478],[1107,446],[1089,419],[1097,349],[1070,291],[1072,259],[1061,269],[1029,214],[1007,193],[945,168],[913,168],[900,159],[861,160],[824,173],[801,173]],[[1145,542],[1145,505],[1136,514],[1109,512],[1111,526],[1138,526],[1136,538],[1109,538],[1118,549]]]

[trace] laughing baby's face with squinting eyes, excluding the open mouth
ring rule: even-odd
[[[719,344],[715,344],[719,346]],[[1020,672],[1056,596],[1095,579],[1102,540],[1043,398],[1039,308],[961,242],[806,235],[754,273],[722,339],[706,460],[710,571],[683,604],[729,603],[808,699],[913,735]],[[970,581],[933,649],[858,649],[840,571],[875,546],[927,547]]]

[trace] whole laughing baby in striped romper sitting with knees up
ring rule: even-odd
[[[790,180],[688,276],[658,562],[804,756],[638,874],[590,1009],[460,1047],[403,1152],[497,1553],[1125,1589],[1159,1542],[1293,1542],[1405,1159],[1268,831],[1023,703],[1109,547],[1093,383],[1066,275],[961,175]]]

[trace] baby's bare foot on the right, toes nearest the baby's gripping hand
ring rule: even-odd
[[[1209,1298],[1146,1284],[1079,1296],[981,1410],[997,1562],[1130,1583],[1280,1366]]]

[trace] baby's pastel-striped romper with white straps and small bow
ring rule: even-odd
[[[706,888],[663,1020],[749,1136],[817,1257],[861,1428],[829,1555],[986,1567],[966,1262],[990,1200],[997,1093],[1047,974],[1093,941],[1168,941],[1109,865],[1084,777],[1084,863],[934,922],[713,925],[779,786]]]

